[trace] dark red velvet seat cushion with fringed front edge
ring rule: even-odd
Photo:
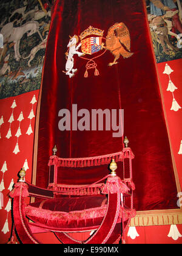
[[[63,232],[97,229],[107,210],[107,197],[60,197],[35,202],[25,207],[25,214],[32,221],[46,225],[51,230]],[[121,218],[118,219],[118,222]]]

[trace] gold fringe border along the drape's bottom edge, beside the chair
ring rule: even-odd
[[[130,227],[163,226],[182,224],[182,210],[153,210],[136,212],[130,221]]]

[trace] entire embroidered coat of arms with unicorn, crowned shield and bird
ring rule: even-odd
[[[117,64],[120,55],[122,55],[123,58],[129,58],[133,55],[133,53],[130,52],[130,33],[124,23],[113,24],[107,32],[107,37],[104,38],[103,35],[104,30],[89,26],[79,37],[77,35],[70,37],[69,44],[67,45],[69,49],[66,52],[66,71],[63,72],[71,78],[75,75],[76,71],[78,71],[78,69],[73,68],[74,55],[76,54],[81,59],[87,60],[84,77],[89,76],[89,69],[95,69],[94,75],[99,76],[95,60],[101,57],[107,50],[115,57],[113,62],[110,62],[108,66]],[[78,51],[80,47],[81,52]],[[98,54],[96,55],[96,53]],[[90,58],[89,55],[93,55],[93,57]]]

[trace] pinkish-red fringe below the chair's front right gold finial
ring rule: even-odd
[[[127,193],[129,192],[129,188],[126,184],[124,184],[120,177],[109,177],[106,181],[106,185],[104,185],[102,193],[103,194],[114,194],[114,193]]]

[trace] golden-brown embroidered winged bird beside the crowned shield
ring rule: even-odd
[[[106,46],[104,44],[102,46],[115,56],[114,61],[109,63],[109,66],[118,63],[116,60],[120,58],[120,55],[123,58],[129,58],[133,55],[130,52],[130,33],[124,23],[115,23],[109,28],[106,37]]]

